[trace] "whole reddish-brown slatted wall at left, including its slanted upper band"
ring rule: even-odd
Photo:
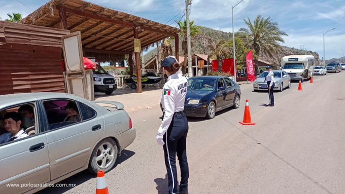
[[[0,21],[0,95],[65,92],[61,37],[69,30]]]

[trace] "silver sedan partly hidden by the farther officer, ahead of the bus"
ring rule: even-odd
[[[290,75],[284,70],[272,70],[274,77],[275,91],[282,92],[284,88],[291,87]],[[265,81],[268,71],[263,71],[253,83],[254,91],[267,90],[267,82]]]

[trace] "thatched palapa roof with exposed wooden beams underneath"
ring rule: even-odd
[[[84,55],[98,55],[94,57],[100,61],[117,58],[115,55],[122,58],[133,52],[134,29],[142,49],[180,32],[179,28],[82,0],[51,0],[25,17],[22,23],[61,28],[60,16],[66,20],[65,26],[62,24],[65,29],[81,32]]]

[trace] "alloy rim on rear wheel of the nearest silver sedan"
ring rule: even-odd
[[[112,164],[114,156],[114,146],[109,142],[102,143],[96,153],[97,166],[101,169],[108,168]]]

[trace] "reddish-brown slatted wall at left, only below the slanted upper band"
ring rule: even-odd
[[[65,92],[61,48],[19,44],[0,46],[0,95]]]

